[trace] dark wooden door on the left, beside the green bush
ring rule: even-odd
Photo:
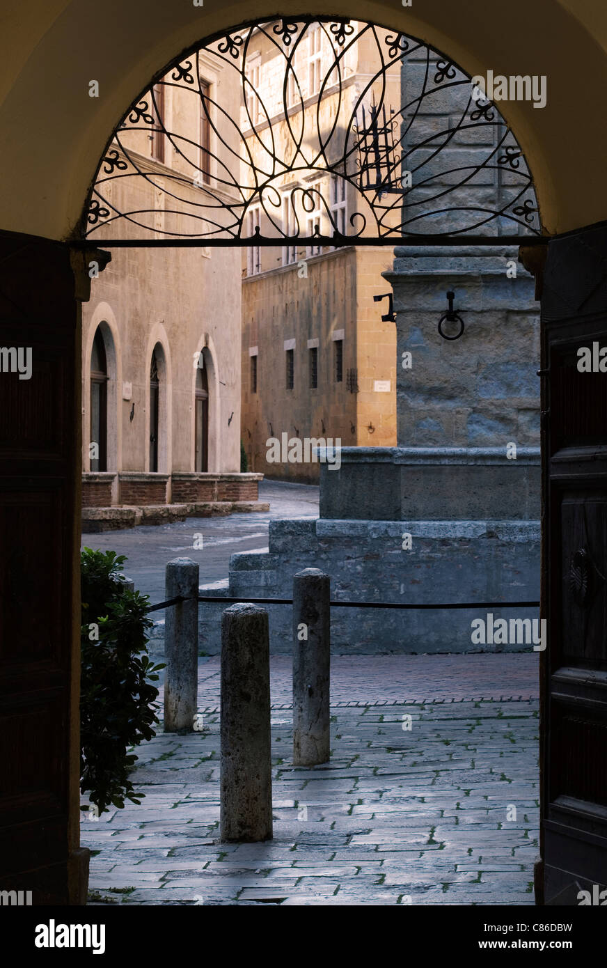
[[[67,904],[77,894],[80,361],[66,247],[0,232],[0,347],[31,352],[27,378],[0,372],[0,889]]]

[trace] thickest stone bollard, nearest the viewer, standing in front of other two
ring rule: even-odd
[[[231,605],[222,617],[221,839],[272,837],[268,616]]]

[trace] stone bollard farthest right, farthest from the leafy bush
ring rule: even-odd
[[[330,751],[330,583],[318,568],[293,576],[293,764],[326,763]]]

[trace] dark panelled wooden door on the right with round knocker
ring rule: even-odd
[[[548,647],[538,890],[547,904],[578,905],[607,886],[607,227],[550,243],[542,322]],[[581,369],[586,349],[595,372]]]

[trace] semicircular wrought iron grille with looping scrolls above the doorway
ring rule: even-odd
[[[234,85],[240,117],[225,97]],[[167,88],[190,107],[165,112]],[[302,17],[238,28],[173,62],[114,132],[81,237],[310,253],[540,232],[522,150],[470,76],[405,34]]]

